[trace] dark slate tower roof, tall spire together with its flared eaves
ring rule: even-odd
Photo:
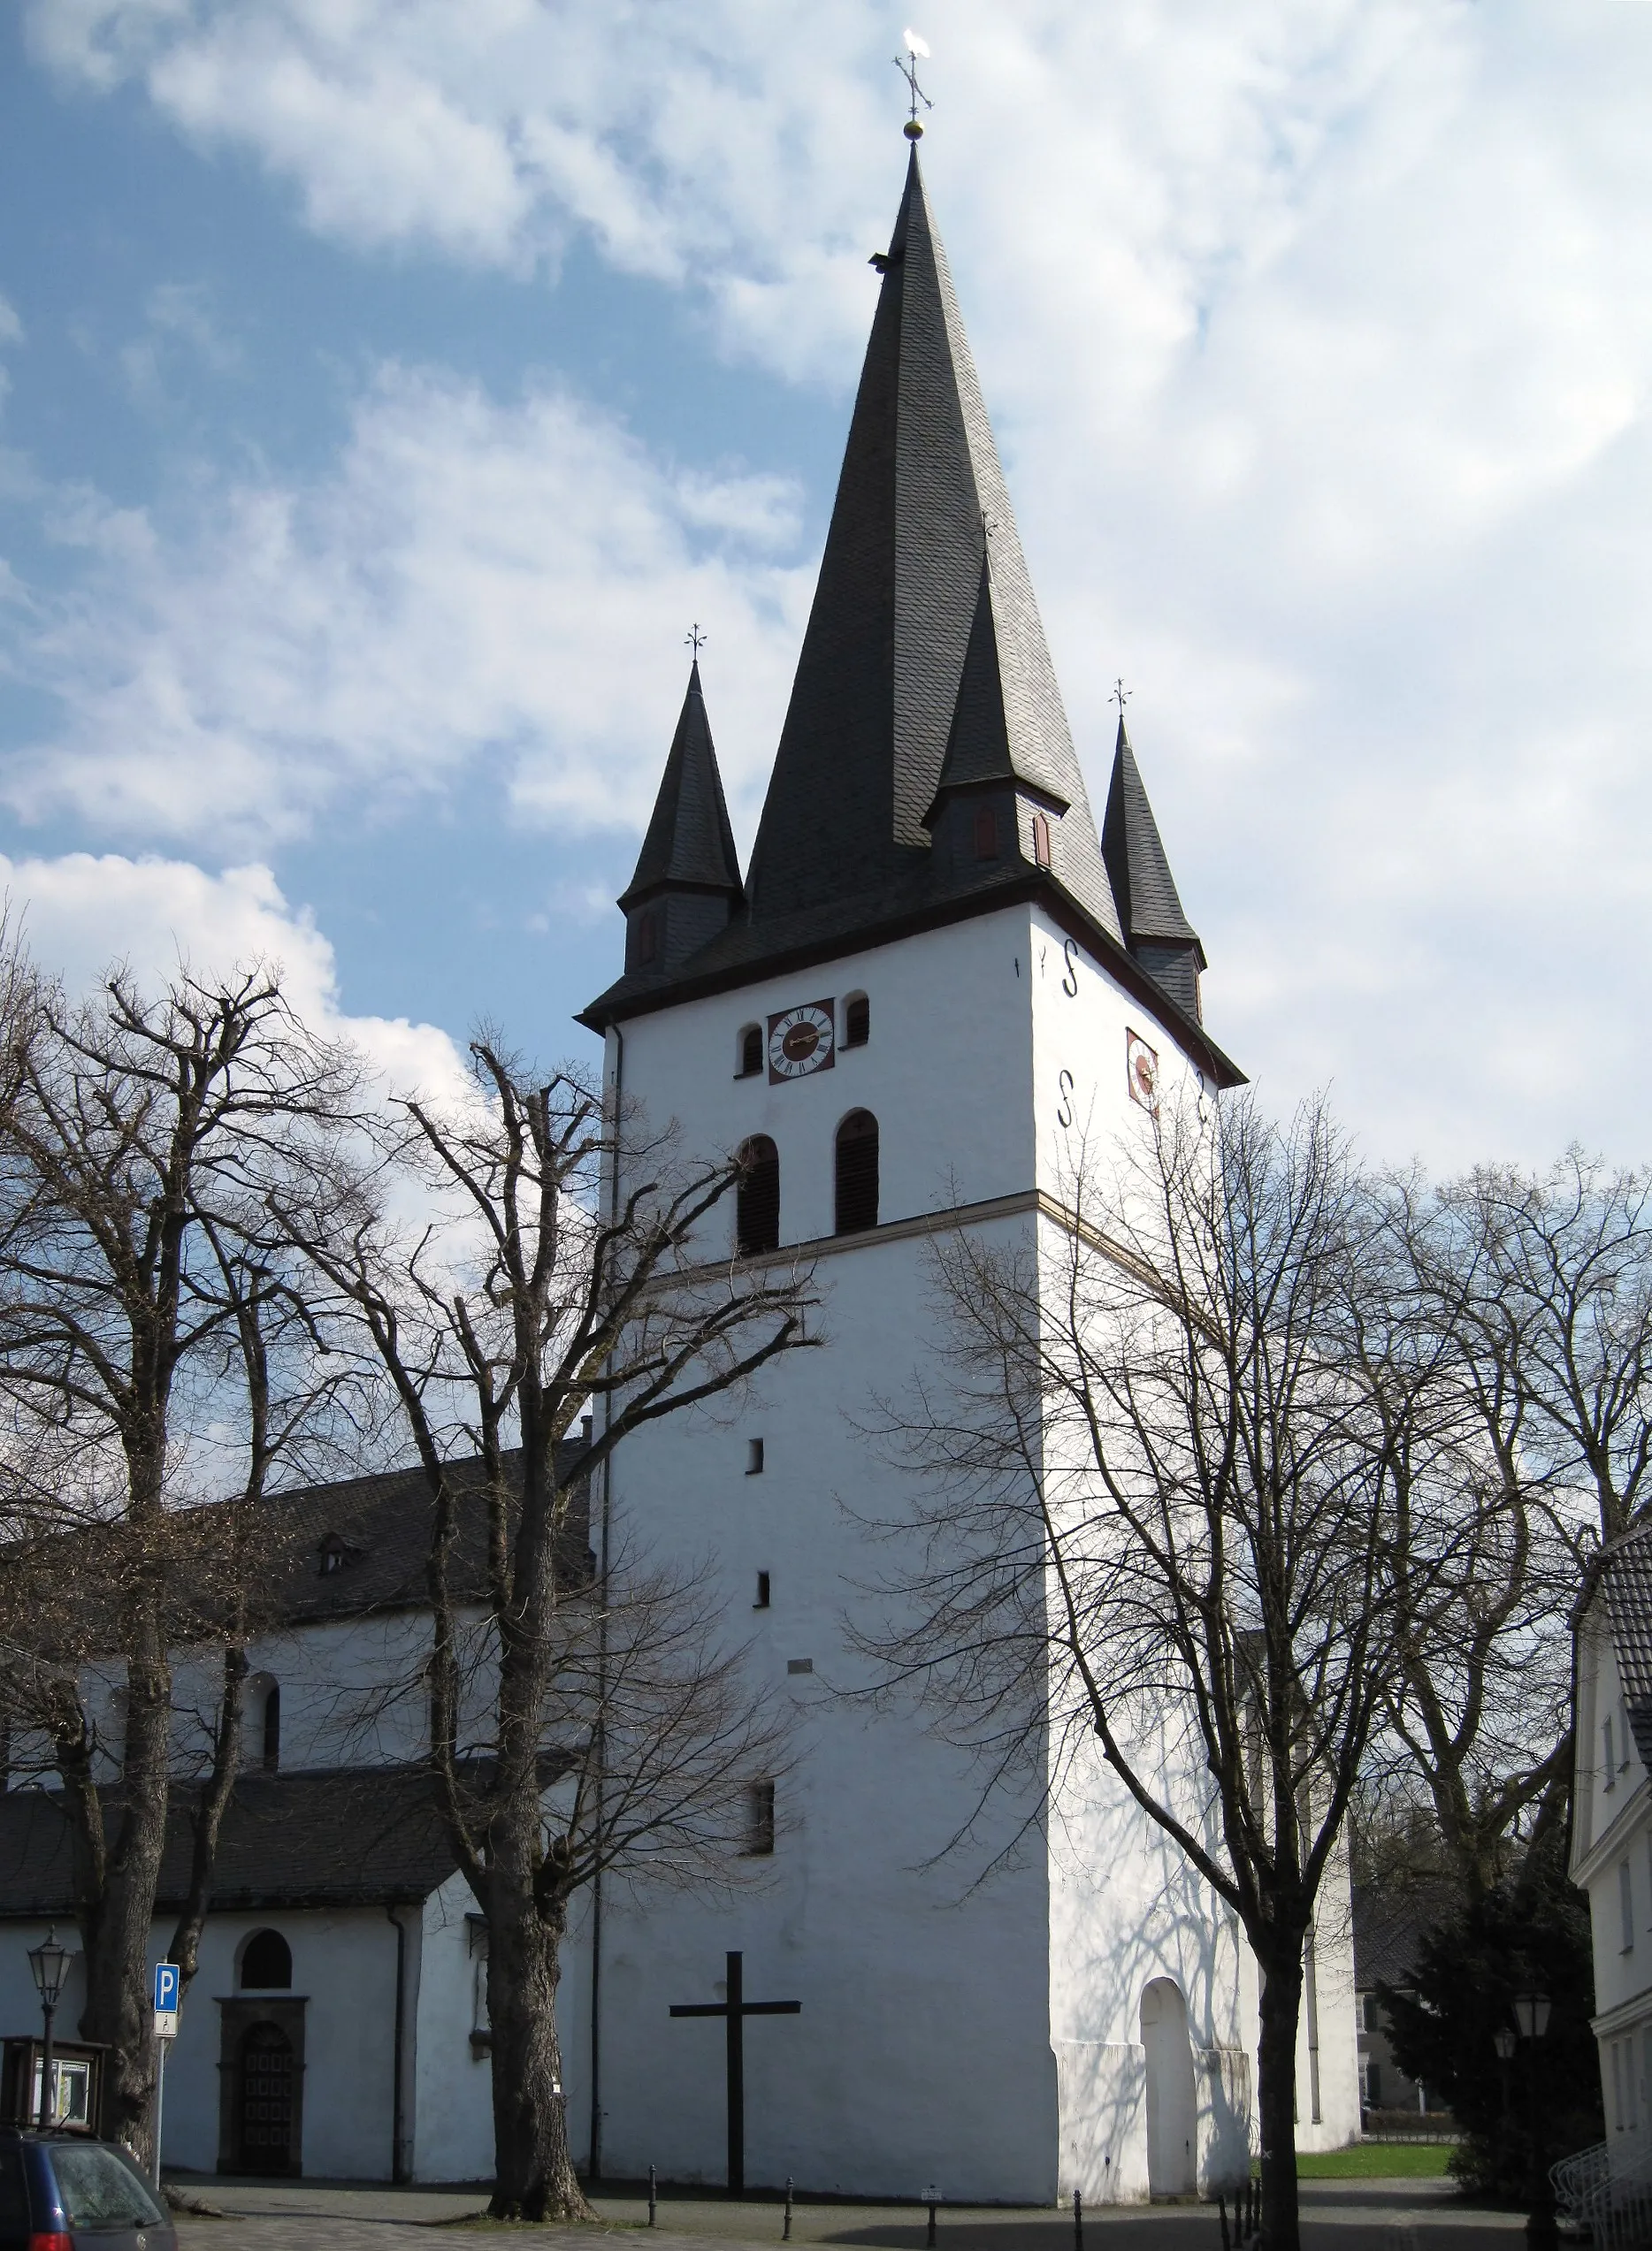
[[[619,977],[581,1013],[596,1031],[986,912],[1015,887],[1049,900],[1110,968],[1128,959],[916,146],[876,263],[878,311],[743,905],[686,957]],[[1049,873],[977,871],[932,851],[948,763],[950,781],[1013,779],[1058,810]],[[657,864],[659,840],[644,844],[621,905],[644,869],[659,880]],[[1197,1026],[1184,981],[1161,984],[1157,957],[1134,966],[1143,993],[1182,1013],[1170,1022],[1218,1083],[1236,1085],[1242,1074]]]

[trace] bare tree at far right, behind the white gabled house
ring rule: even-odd
[[[1427,1362],[1393,1445],[1389,1774],[1420,1778],[1458,1877],[1483,1891],[1510,1850],[1564,1828],[1569,1621],[1602,1544],[1652,1501],[1652,1182],[1578,1150],[1542,1175],[1393,1182],[1368,1256],[1389,1283],[1382,1335],[1359,1339],[1384,1362],[1375,1396]]]

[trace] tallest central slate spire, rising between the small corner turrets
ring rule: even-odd
[[[752,853],[752,932],[799,916],[851,930],[954,880],[925,817],[984,615],[1006,779],[1062,808],[1053,871],[1121,936],[916,146],[873,263],[878,313]]]

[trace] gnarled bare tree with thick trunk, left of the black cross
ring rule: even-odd
[[[470,1053],[475,1101],[410,1103],[398,1153],[446,1220],[407,1236],[365,1213],[338,1240],[281,1218],[365,1324],[432,1492],[430,1760],[488,1925],[493,2213],[567,2219],[587,2215],[556,2030],[569,1902],[601,1868],[734,1880],[779,1756],[693,1580],[587,1562],[581,1492],[641,1425],[808,1342],[812,1299],[790,1270],[702,1263],[738,1166],[626,1146],[583,1078],[536,1080],[486,1038]]]

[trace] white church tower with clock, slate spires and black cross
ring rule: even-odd
[[[855,1423],[932,1342],[934,1231],[1053,1225],[1040,1193],[1049,1211],[1074,1121],[1141,1121],[1130,1074],[1240,1080],[1200,1020],[1204,952],[1123,723],[1096,831],[916,144],[873,263],[749,871],[695,666],[621,898],[626,972],[583,1017],[628,1103],[677,1119],[691,1153],[747,1153],[709,1249],[810,1261],[828,1339],[765,1371],[738,1425],[668,1420],[614,1463],[617,1531],[716,1558],[731,1627],[797,1700],[799,1760],[754,1790],[765,1884],[601,1904],[601,2159],[725,2179],[727,2019],[671,2008],[734,1999],[797,2003],[740,2021],[754,2186],[1215,2188],[1247,2165],[1256,2042],[1220,1902],[1105,1774],[1060,1841],[972,1889],[979,1862],[936,1855],[979,1776],[918,1718],[835,1693],[864,1677],[844,1612],[880,1569],[853,1513],[903,1506]],[[574,2060],[569,2037],[569,2078]],[[1344,1929],[1310,1985],[1305,2147],[1357,2132],[1355,2073]]]

